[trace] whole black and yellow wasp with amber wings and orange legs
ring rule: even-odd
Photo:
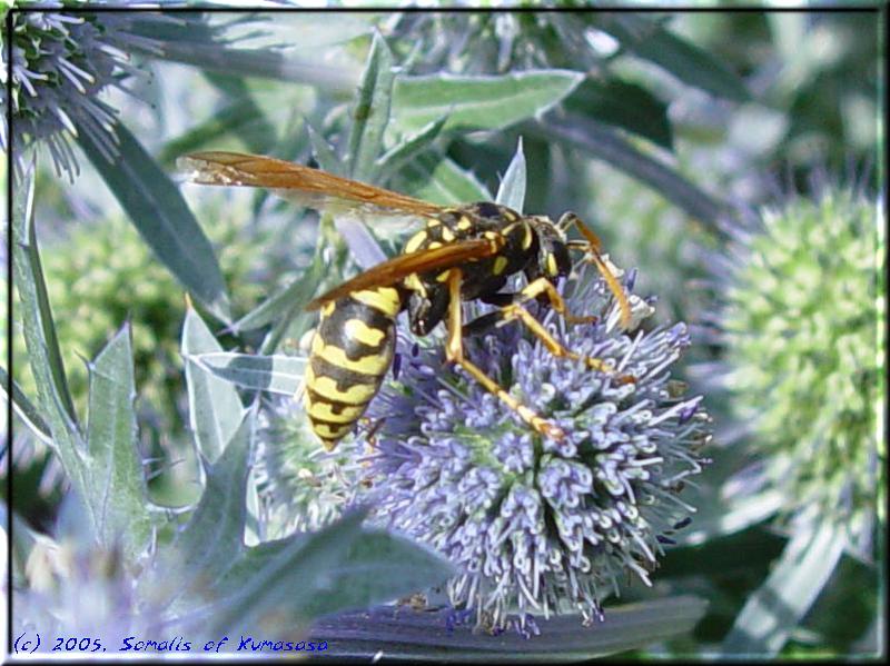
[[[195,153],[182,158],[179,166],[194,182],[202,185],[264,187],[317,210],[359,217],[408,216],[424,222],[402,255],[330,289],[306,308],[320,310],[320,321],[306,366],[304,402],[313,431],[328,450],[352,431],[379,390],[393,364],[396,317],[403,311],[407,311],[417,336],[444,322],[446,360],[466,370],[546,437],[561,439],[564,433],[467,359],[464,335],[520,321],[552,354],[615,375],[605,361],[566,349],[525,307],[538,300],[550,304],[571,324],[594,320],[568,312],[556,288],[572,270],[570,251],[581,251],[614,294],[622,326],[630,326],[627,296],[603,259],[600,239],[572,212],[554,222],[546,216],[523,216],[490,201],[437,206],[319,169],[235,152]],[[573,227],[583,240],[567,239]],[[508,279],[520,274],[525,276],[525,286],[504,292]],[[473,300],[497,309],[464,324],[461,306]],[[615,375],[615,380],[627,382],[633,377]]]

